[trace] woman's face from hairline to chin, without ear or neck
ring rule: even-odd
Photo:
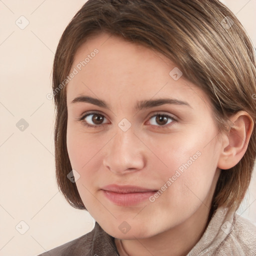
[[[106,33],[81,45],[71,71],[67,150],[99,225],[143,238],[205,211],[221,143],[203,91],[159,52]]]

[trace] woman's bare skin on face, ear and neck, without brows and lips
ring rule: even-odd
[[[99,52],[66,87],[67,150],[72,168],[80,175],[76,185],[81,199],[99,225],[115,237],[118,251],[121,240],[128,255],[185,255],[207,225],[219,168],[239,161],[247,137],[234,136],[233,150],[232,136],[218,132],[207,95],[183,76],[174,80],[169,72],[176,65],[152,49],[101,33],[79,47],[71,70],[94,48]],[[102,99],[110,109],[71,102],[81,95]],[[166,97],[189,106],[133,109],[137,101]],[[101,116],[104,125],[87,127],[78,120],[87,111],[98,114],[84,122],[99,125],[91,117]],[[166,124],[151,117],[157,113],[170,115]],[[131,124],[127,131],[118,126],[123,118]],[[252,124],[246,113],[232,121],[237,119],[243,138]],[[134,206],[118,206],[100,190],[112,183],[161,189],[198,151],[200,156],[153,202],[146,199]],[[118,228],[123,221],[130,226],[127,233]]]

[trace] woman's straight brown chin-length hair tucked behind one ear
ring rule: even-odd
[[[244,156],[221,171],[212,199],[212,206],[236,210],[256,155],[255,52],[240,22],[218,0],[88,0],[78,10],[60,38],[53,64],[56,178],[67,201],[85,209],[75,183],[67,178],[72,168],[66,148],[66,87],[57,89],[70,72],[78,47],[102,31],[153,48],[172,60],[208,95],[219,131],[239,110],[253,118]]]

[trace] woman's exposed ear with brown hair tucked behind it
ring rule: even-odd
[[[228,132],[222,134],[222,147],[217,167],[229,169],[244,155],[253,130],[253,119],[245,111],[239,111],[230,118]]]

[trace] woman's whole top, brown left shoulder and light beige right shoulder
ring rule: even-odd
[[[97,222],[89,233],[38,256],[119,256],[114,237]],[[213,214],[200,240],[186,256],[256,256],[256,226],[227,208]],[[139,256],[139,255],[138,255]],[[158,256],[158,255],[157,255]],[[171,256],[171,251],[168,255]]]

